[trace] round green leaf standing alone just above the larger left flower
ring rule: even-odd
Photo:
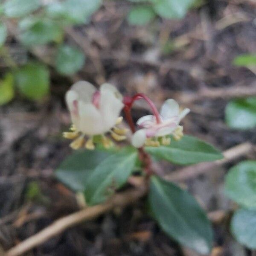
[[[82,51],[69,45],[62,45],[58,49],[56,69],[64,75],[72,75],[83,67],[85,56]]]

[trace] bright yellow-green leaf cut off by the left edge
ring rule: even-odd
[[[0,80],[0,105],[11,101],[14,97],[14,79],[11,73],[7,73],[3,80]]]

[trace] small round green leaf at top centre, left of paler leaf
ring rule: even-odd
[[[146,25],[154,19],[155,13],[150,6],[137,6],[131,9],[128,14],[128,22],[131,25]]]

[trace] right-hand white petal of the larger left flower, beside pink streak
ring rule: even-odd
[[[105,130],[109,130],[116,124],[120,111],[123,108],[122,100],[116,98],[112,90],[101,90],[99,111],[102,116],[102,123]]]

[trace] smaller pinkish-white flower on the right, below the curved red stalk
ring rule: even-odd
[[[175,140],[179,140],[183,136],[183,126],[179,125],[180,120],[189,111],[188,108],[180,111],[179,105],[174,99],[167,99],[160,110],[158,122],[152,115],[143,116],[137,121],[137,125],[141,129],[134,133],[132,144],[136,148],[143,145],[169,145],[171,138],[166,137],[169,134],[172,134]]]

